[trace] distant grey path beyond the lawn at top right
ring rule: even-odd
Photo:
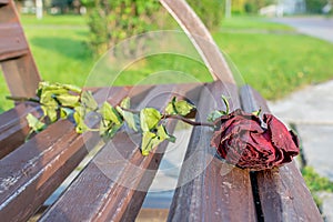
[[[273,21],[294,27],[299,32],[333,42],[333,18],[297,17],[276,18]]]

